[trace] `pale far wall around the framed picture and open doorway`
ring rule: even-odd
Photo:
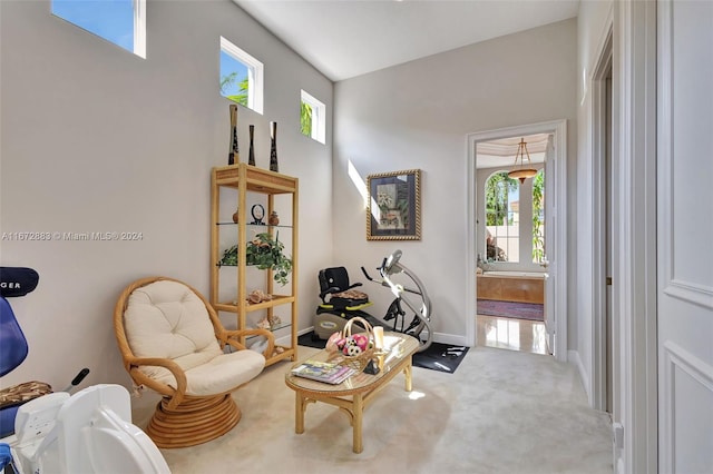
[[[334,91],[334,258],[350,274],[374,268],[395,248],[429,289],[438,338],[465,340],[468,238],[467,135],[567,119],[576,150],[576,20],[567,20],[338,82]],[[367,241],[363,181],[374,172],[420,168],[422,239]],[[575,166],[569,166],[575,176]],[[575,189],[572,188],[574,201]],[[572,219],[572,217],[570,217]],[[574,239],[572,219],[570,234]],[[572,270],[570,270],[572,271]],[[574,273],[568,271],[570,275]],[[390,299],[367,287],[381,316]],[[575,286],[572,286],[574,292]],[[572,299],[570,299],[572,302]],[[576,345],[576,324],[569,326]]]

